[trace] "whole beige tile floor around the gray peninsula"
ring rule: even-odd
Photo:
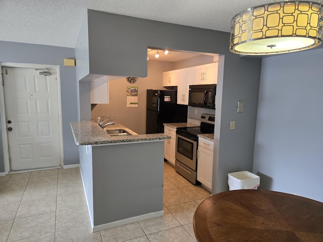
[[[79,168],[0,177],[0,242],[194,242],[192,220],[210,193],[164,164],[164,217],[91,232]]]

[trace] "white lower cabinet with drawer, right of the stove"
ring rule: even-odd
[[[213,141],[198,138],[197,180],[212,190]]]

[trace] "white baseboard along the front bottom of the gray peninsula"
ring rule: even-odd
[[[139,216],[136,216],[136,217],[126,218],[126,219],[114,221],[114,222],[111,222],[111,223],[105,223],[105,224],[93,226],[92,227],[92,232],[94,233],[94,232],[98,232],[98,231],[101,231],[101,230],[104,230],[104,229],[114,228],[114,227],[118,227],[118,226],[121,226],[121,225],[146,220],[146,219],[149,219],[149,218],[156,218],[156,217],[160,217],[160,216],[164,216],[164,210],[139,215]]]

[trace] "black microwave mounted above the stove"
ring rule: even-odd
[[[216,91],[217,84],[190,85],[188,105],[216,109]]]

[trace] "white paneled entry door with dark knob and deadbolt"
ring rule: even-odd
[[[61,165],[58,80],[50,73],[3,67],[11,171]]]

